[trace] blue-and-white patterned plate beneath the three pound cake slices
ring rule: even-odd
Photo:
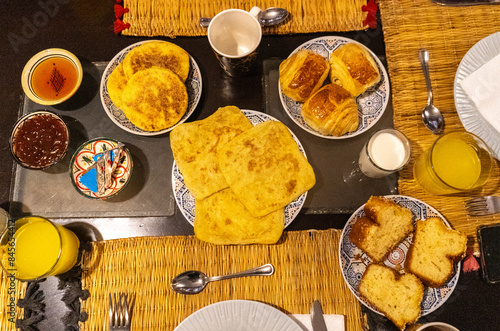
[[[425,220],[429,217],[439,217],[449,228],[451,228],[450,223],[448,223],[443,215],[441,215],[437,210],[435,210],[425,202],[402,195],[388,195],[385,197],[393,200],[401,207],[410,209],[413,213],[414,223],[416,223],[417,220]],[[366,255],[361,249],[356,247],[349,240],[349,233],[351,232],[354,222],[358,218],[364,216],[365,213],[363,211],[363,208],[364,205],[359,207],[358,210],[356,210],[352,214],[352,216],[347,221],[344,230],[342,231],[339,248],[340,265],[342,268],[342,275],[344,276],[344,280],[346,281],[349,289],[356,296],[356,298],[358,298],[358,300],[361,301],[361,303],[363,303],[366,307],[382,315],[381,312],[379,312],[376,308],[372,307],[368,302],[366,302],[361,297],[358,291],[361,277],[363,276],[366,267],[370,263],[372,263],[372,260],[370,259],[370,257],[368,257],[368,255]],[[408,248],[410,247],[412,238],[413,234],[406,237],[406,239],[398,247],[396,247],[396,249],[389,253],[388,257],[384,261],[384,264],[391,268],[402,270],[404,268],[406,253],[408,252]],[[445,301],[450,297],[451,293],[458,283],[460,262],[455,266],[455,270],[457,271],[455,272],[455,275],[444,286],[439,288],[425,287],[424,298],[420,305],[420,316],[424,316],[433,312],[443,303],[445,303]]]

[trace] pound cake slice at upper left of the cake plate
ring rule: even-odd
[[[349,239],[375,262],[414,230],[412,212],[384,197],[370,197],[364,212],[365,217],[354,222]]]

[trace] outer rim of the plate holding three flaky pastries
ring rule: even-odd
[[[283,93],[282,93],[282,89],[281,89],[281,83],[278,79],[278,94],[279,94],[279,98],[280,98],[280,102],[281,102],[281,105],[283,106],[283,109],[285,110],[286,114],[288,115],[288,117],[290,117],[292,119],[292,121],[297,124],[301,129],[303,129],[304,131],[312,134],[312,135],[315,135],[317,137],[320,137],[320,138],[324,138],[324,139],[331,139],[331,140],[338,140],[338,139],[348,139],[348,138],[353,138],[353,137],[356,137],[366,131],[368,131],[370,128],[372,128],[381,118],[382,116],[384,115],[386,109],[387,109],[387,106],[389,105],[389,100],[390,100],[390,95],[391,95],[391,84],[390,84],[390,80],[389,80],[389,75],[387,74],[387,70],[385,69],[385,66],[384,64],[382,63],[382,61],[378,58],[378,56],[373,53],[373,51],[368,48],[367,46],[363,45],[362,43],[360,43],[359,41],[356,41],[354,39],[351,39],[351,38],[347,38],[347,37],[341,37],[341,36],[334,36],[334,35],[328,35],[328,36],[323,36],[323,37],[317,37],[317,38],[313,38],[313,39],[310,39],[304,43],[302,43],[301,45],[299,45],[298,47],[296,47],[289,55],[287,58],[289,58],[290,56],[292,56],[294,53],[298,52],[299,50],[303,49],[304,47],[306,47],[308,44],[311,44],[313,42],[316,42],[316,41],[319,41],[319,40],[334,40],[334,41],[337,41],[337,40],[341,40],[341,41],[345,41],[346,43],[349,43],[349,42],[352,42],[352,43],[356,43],[360,46],[362,46],[364,49],[366,49],[370,55],[372,56],[372,58],[374,59],[374,61],[377,63],[377,65],[379,66],[379,69],[381,71],[381,75],[384,77],[384,84],[386,85],[386,88],[387,88],[387,98],[386,98],[386,101],[383,103],[383,106],[382,106],[382,111],[380,112],[380,114],[366,127],[364,128],[363,130],[356,130],[354,131],[352,134],[349,134],[349,133],[346,133],[340,137],[337,137],[337,136],[329,136],[329,135],[323,135],[321,134],[320,132],[308,127],[308,126],[305,126],[304,124],[298,122],[294,116],[292,116],[292,114],[290,114],[290,111],[288,109],[288,107],[286,107],[285,105],[285,102],[284,102],[284,98],[288,98],[287,96],[285,96]],[[329,52],[329,54],[331,54]],[[380,84],[377,83],[377,84]],[[366,93],[366,92],[365,92]],[[358,99],[364,95],[361,94],[360,96],[357,96],[356,97],[356,104],[358,105],[358,114],[359,114],[359,103],[358,103]],[[301,115],[302,116],[302,115]]]

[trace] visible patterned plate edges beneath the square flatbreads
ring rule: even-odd
[[[255,114],[256,116],[266,117],[267,119],[264,122],[267,122],[267,121],[277,121],[277,122],[283,123],[283,122],[279,121],[278,119],[276,119],[275,117],[273,117],[273,116],[271,116],[269,114],[266,114],[264,112],[260,112],[260,111],[257,111],[257,110],[250,110],[250,109],[240,109],[240,110],[243,112],[243,114],[245,114],[245,116],[247,116],[247,118],[248,118],[248,116],[251,116],[251,115]],[[261,123],[263,123],[263,122],[261,122]],[[290,131],[290,133],[292,134],[292,137],[294,138],[295,142],[297,143],[297,145],[299,147],[299,150],[303,153],[304,157],[307,159],[307,155],[306,155],[306,152],[305,152],[305,149],[304,149],[302,143],[300,142],[300,140],[298,139],[298,137],[293,133],[293,131],[288,126],[286,126],[286,127]],[[180,203],[179,203],[178,195],[176,194],[176,192],[178,191],[178,190],[176,190],[176,185],[178,184],[177,178],[175,176],[176,172],[178,172],[182,176],[182,173],[181,173],[181,171],[180,171],[179,167],[177,166],[177,163],[175,162],[175,159],[174,159],[173,160],[173,164],[172,164],[172,175],[171,175],[172,177],[171,177],[171,181],[172,181],[172,191],[174,193],[175,203],[177,205],[177,208],[179,208],[179,210],[181,211],[182,216],[184,216],[184,218],[186,219],[186,221],[188,223],[190,223],[192,226],[194,226],[194,217],[192,218],[191,215],[189,213],[187,213],[187,211],[184,208],[182,208],[181,205],[180,205]],[[185,188],[185,192],[188,192],[189,194],[191,194],[189,192],[188,188],[186,187],[186,185],[183,185],[183,187]],[[307,193],[308,192],[309,191],[306,191],[306,192],[302,193],[298,198],[296,198],[294,201],[290,202],[287,206],[285,206],[285,228],[287,226],[289,226],[293,222],[293,220],[299,215],[300,211],[304,207],[304,203],[306,201]],[[294,203],[295,201],[300,202],[300,208],[298,208],[295,211],[295,213],[293,213],[289,217],[289,220],[288,220],[287,217],[286,217],[286,215],[287,215],[286,208],[288,206],[290,206],[292,203]],[[193,209],[194,209],[194,198],[193,198]]]

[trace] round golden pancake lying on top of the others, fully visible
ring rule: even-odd
[[[152,67],[135,73],[122,93],[121,109],[135,126],[160,131],[179,122],[188,106],[186,86],[171,70]]]

